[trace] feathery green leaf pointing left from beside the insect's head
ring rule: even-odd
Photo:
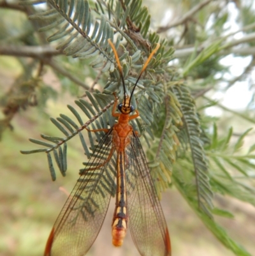
[[[87,128],[89,125],[92,126],[92,129],[100,129],[100,128],[107,128],[108,123],[113,123],[112,115],[103,115],[104,112],[109,112],[109,108],[113,105],[113,101],[110,101],[110,96],[106,94],[100,94],[100,93],[94,93],[93,95],[89,92],[87,92],[87,96],[91,102],[91,104],[94,106],[91,107],[89,102],[85,100],[79,100],[75,103],[77,106],[82,110],[82,112],[89,118],[89,121],[83,122],[82,117],[80,114],[78,114],[78,111],[75,110],[73,107],[68,105],[69,110],[73,114],[73,116],[77,119],[78,123],[74,121],[72,117],[68,117],[66,115],[61,114],[60,117],[57,117],[57,119],[51,118],[50,120],[52,123],[62,132],[64,133],[65,137],[50,137],[48,135],[41,134],[41,137],[45,140],[48,140],[52,143],[45,142],[43,140],[36,140],[36,139],[30,139],[31,142],[34,144],[46,147],[46,148],[40,148],[30,151],[21,151],[22,154],[32,154],[32,153],[40,153],[45,152],[47,153],[47,159],[48,159],[48,167],[50,169],[50,174],[52,176],[52,180],[55,180],[56,174],[54,169],[54,163],[52,160],[51,154],[53,153],[55,163],[57,164],[57,167],[59,168],[62,176],[65,176],[66,170],[67,170],[67,144],[68,140],[75,137],[77,134],[80,137],[80,141],[82,143],[82,146],[84,147],[84,152],[89,158],[91,156],[91,150],[95,148],[94,146],[94,140],[91,137],[91,133],[89,132],[89,143],[88,146],[87,143],[84,140],[84,136],[82,135],[82,131]],[[99,109],[98,105],[104,105],[105,107]],[[96,107],[95,107],[96,106]],[[96,112],[98,110],[98,112]],[[99,119],[99,121],[98,121]],[[96,126],[94,125],[96,124]],[[103,137],[103,133],[99,135],[96,133],[97,140],[99,141],[101,137]]]

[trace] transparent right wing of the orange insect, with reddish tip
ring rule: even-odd
[[[142,145],[133,132],[125,156],[129,227],[143,256],[171,255],[170,237]]]

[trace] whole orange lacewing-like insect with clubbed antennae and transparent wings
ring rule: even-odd
[[[136,248],[143,256],[170,256],[171,245],[163,211],[154,188],[150,170],[138,133],[129,121],[139,116],[131,105],[136,84],[159,49],[152,50],[136,80],[130,96],[126,93],[122,67],[117,51],[110,43],[119,68],[124,101],[112,116],[118,117],[105,132],[92,154],[71,195],[59,214],[45,248],[45,256],[81,256],[91,248],[105,220],[110,197],[115,195],[112,220],[112,243],[121,246],[128,226]],[[116,112],[119,109],[120,113]]]

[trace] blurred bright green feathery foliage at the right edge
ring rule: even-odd
[[[217,126],[214,124],[212,144],[208,147],[207,154],[210,157],[210,169],[214,170],[210,175],[210,181],[215,192],[230,195],[255,206],[255,189],[250,179],[255,167],[251,161],[255,158],[253,154],[255,144],[249,148],[247,153],[241,153],[244,139],[249,132],[251,129],[240,135],[235,144],[231,144],[232,128],[226,137],[219,139]]]

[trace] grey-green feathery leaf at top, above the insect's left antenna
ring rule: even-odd
[[[48,0],[47,3],[50,5],[49,10],[31,15],[30,19],[50,21],[50,24],[40,29],[55,29],[48,41],[60,40],[57,49],[63,50],[67,56],[94,58],[91,62],[93,68],[103,66],[102,72],[113,71],[112,49],[107,41],[108,38],[113,40],[113,28],[104,15],[101,15],[100,20],[93,21],[87,0]]]

